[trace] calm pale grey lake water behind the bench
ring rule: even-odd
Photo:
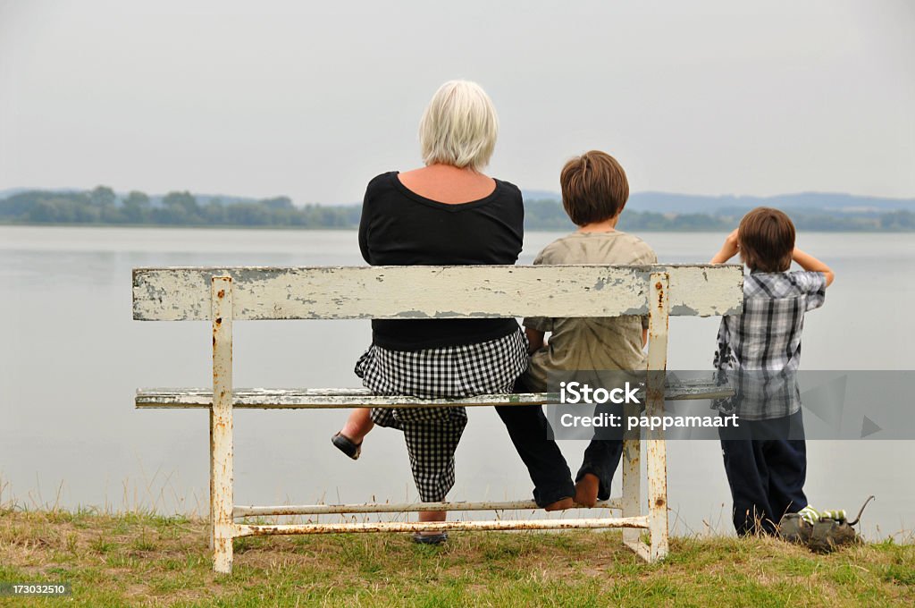
[[[528,233],[521,262],[557,236]],[[725,235],[643,236],[663,262],[704,262]],[[912,235],[809,233],[798,244],[837,276],[807,319],[802,368],[915,368]],[[210,327],[132,320],[131,269],[360,264],[354,232],[0,227],[0,502],[205,514],[206,413],[138,411],[133,396],[140,386],[210,385]],[[717,324],[671,320],[669,367],[708,368]],[[237,323],[235,385],[357,386],[352,366],[370,339],[366,321]],[[236,504],[414,500],[402,436],[377,429],[350,461],[328,441],[345,416],[237,412]],[[583,449],[563,443],[573,471]],[[813,505],[852,509],[877,494],[867,537],[910,538],[915,441],[818,440],[808,452]],[[471,409],[457,459],[449,498],[530,496],[490,408]],[[671,441],[668,471],[675,532],[730,530],[716,441]]]

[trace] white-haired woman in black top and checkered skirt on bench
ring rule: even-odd
[[[443,84],[425,109],[424,168],[382,173],[362,206],[362,257],[375,265],[514,264],[522,248],[521,191],[481,172],[495,147],[490,98],[468,81]],[[362,384],[383,395],[462,397],[511,393],[528,364],[513,319],[372,320],[372,341],[356,364]],[[463,407],[354,410],[333,443],[352,459],[373,424],[404,432],[416,489],[440,502],[455,482],[454,454],[467,425]],[[444,521],[425,511],[420,521]],[[446,534],[419,533],[437,544]]]

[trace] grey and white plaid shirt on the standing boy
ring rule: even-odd
[[[823,306],[822,272],[753,272],[744,279],[743,312],[724,317],[715,368],[736,395],[715,407],[741,418],[789,416],[801,407],[795,372],[801,362],[803,316]]]

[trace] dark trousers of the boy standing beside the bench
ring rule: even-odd
[[[807,506],[802,412],[782,418],[738,420],[737,428],[718,429],[734,499],[734,528],[741,536],[775,534],[781,516]]]

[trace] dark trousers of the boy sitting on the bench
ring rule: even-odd
[[[532,388],[524,385],[522,375],[515,385],[515,392],[526,393]],[[618,411],[619,410],[619,411]],[[599,407],[598,412],[621,415],[618,406]],[[515,450],[521,456],[533,482],[533,500],[539,506],[546,506],[557,500],[575,495],[572,473],[565,462],[559,446],[551,439],[553,434],[544,416],[542,406],[497,406],[496,413],[509,431]],[[585,457],[576,475],[576,482],[587,473],[597,477],[599,488],[597,498],[610,497],[610,483],[622,456],[622,431],[598,431],[594,440],[585,450]]]

